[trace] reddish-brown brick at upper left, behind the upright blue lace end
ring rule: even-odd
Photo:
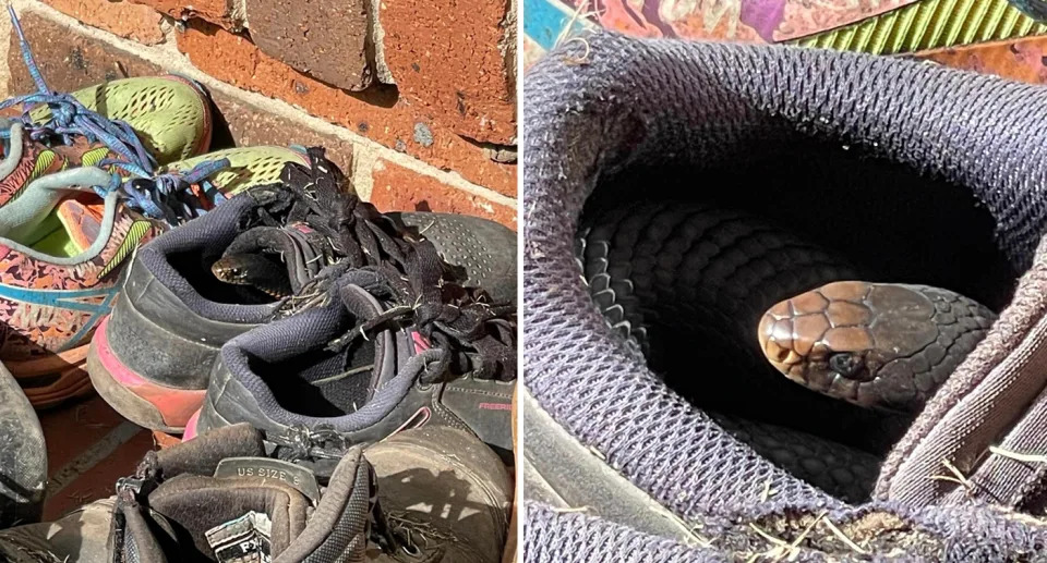
[[[107,79],[163,72],[155,64],[79,35],[33,12],[19,17],[47,85],[58,91],[72,91]],[[22,51],[14,34],[11,35],[11,48],[5,62],[11,70],[8,95],[36,91],[22,62]]]

